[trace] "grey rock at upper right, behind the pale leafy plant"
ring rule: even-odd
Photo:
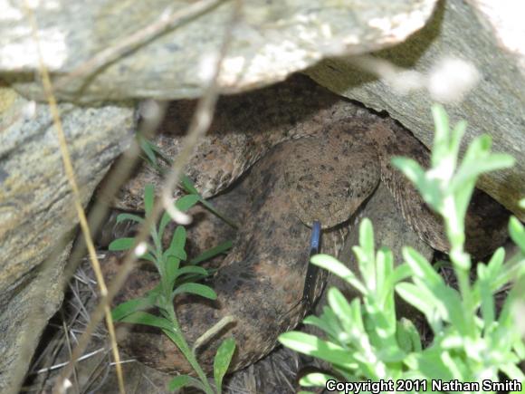
[[[375,54],[398,66],[424,73],[444,55],[460,57],[476,66],[482,74],[478,86],[463,102],[448,105],[446,110],[453,122],[462,119],[469,122],[463,149],[474,137],[489,133],[493,150],[510,153],[517,160],[513,168],[483,176],[478,186],[525,220],[525,211],[518,207],[519,199],[525,196],[523,68],[514,56],[498,46],[492,29],[484,26],[466,2],[441,2],[424,29],[405,43]],[[522,36],[519,39],[522,43]],[[307,73],[331,91],[361,101],[377,111],[387,111],[431,147],[434,135],[430,114],[432,100],[425,91],[399,96],[385,82],[342,60],[320,62]]]

